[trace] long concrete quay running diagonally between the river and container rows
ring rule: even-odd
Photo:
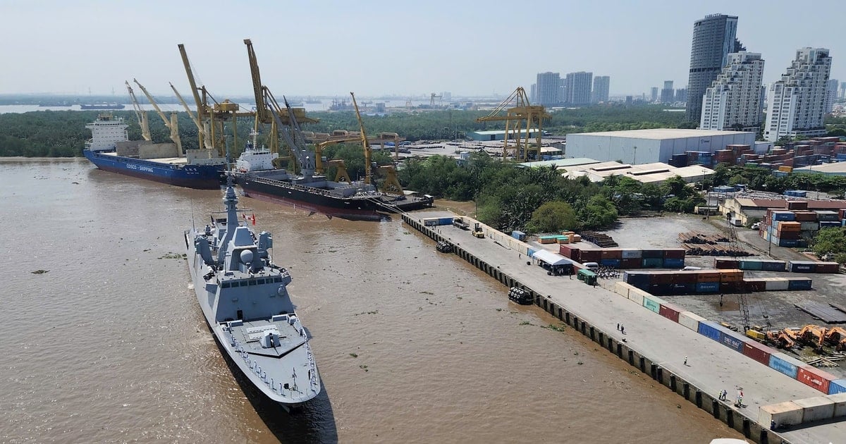
[[[761,406],[821,395],[810,386],[646,310],[609,289],[589,287],[574,277],[548,276],[541,267],[527,265],[530,259],[514,248],[507,235],[491,227],[483,226],[486,238],[474,238],[470,231],[457,227],[424,225],[425,218],[446,216],[448,213],[415,212],[404,214],[403,220],[436,242],[450,242],[454,245],[453,254],[505,286],[529,290],[541,309],[750,440],[764,444],[846,441],[846,422],[777,432],[769,430],[769,425],[756,422]],[[475,221],[464,219],[473,227]],[[503,288],[503,298],[507,293]],[[618,332],[618,323],[625,327],[625,334]],[[685,357],[687,365],[684,365]],[[733,406],[738,388],[744,393],[743,408]],[[722,390],[728,391],[728,402],[717,400]]]

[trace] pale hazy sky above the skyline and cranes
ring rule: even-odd
[[[538,72],[611,76],[611,93],[687,85],[693,22],[739,16],[777,79],[799,47],[827,47],[846,81],[846,0],[0,0],[0,94],[124,96],[137,78],[190,94],[178,43],[216,97],[249,95],[244,38],[277,96],[508,94]]]

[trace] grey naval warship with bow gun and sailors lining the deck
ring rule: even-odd
[[[321,381],[288,296],[291,275],[272,262],[271,233],[256,237],[239,221],[231,178],[223,203],[226,211],[213,212],[211,224],[185,232],[197,301],[244,376],[283,408],[296,408],[321,392]]]

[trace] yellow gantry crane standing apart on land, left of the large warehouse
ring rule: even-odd
[[[510,105],[516,104],[514,107]],[[505,112],[505,115],[502,112]],[[483,118],[477,118],[476,122],[505,122],[505,140],[503,140],[503,161],[508,156],[508,140],[514,139],[516,149],[515,157],[525,162],[530,160],[529,152],[535,153],[535,159],[541,158],[541,127],[544,121],[551,116],[542,105],[530,105],[529,96],[522,87],[518,87],[490,114]],[[530,134],[535,131],[536,143],[529,145]]]

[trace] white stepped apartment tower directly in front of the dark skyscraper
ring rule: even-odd
[[[700,129],[755,131],[761,127],[764,60],[755,52],[732,52],[728,64],[702,96]]]

